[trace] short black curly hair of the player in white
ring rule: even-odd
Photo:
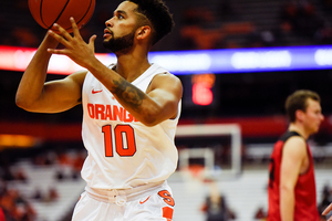
[[[154,29],[153,44],[158,42],[174,27],[173,15],[163,0],[128,0],[137,4],[137,12],[145,15]]]

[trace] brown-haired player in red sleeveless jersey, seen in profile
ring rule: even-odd
[[[324,119],[320,96],[297,91],[286,101],[288,130],[276,143],[270,162],[269,221],[319,221],[313,159],[307,139]]]

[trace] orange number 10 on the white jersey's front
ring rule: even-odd
[[[132,157],[136,152],[136,143],[134,136],[134,129],[129,125],[117,125],[112,130],[111,125],[103,126],[104,143],[105,143],[105,156],[114,157],[113,136],[115,150],[121,157]]]

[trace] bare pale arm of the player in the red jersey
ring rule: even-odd
[[[286,141],[280,171],[280,213],[282,221],[293,221],[294,219],[294,188],[305,156],[307,147],[303,138],[291,137]]]

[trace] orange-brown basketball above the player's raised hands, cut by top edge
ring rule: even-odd
[[[95,8],[95,0],[29,0],[33,19],[44,29],[60,24],[72,32],[70,18],[73,17],[79,29],[89,22]]]

